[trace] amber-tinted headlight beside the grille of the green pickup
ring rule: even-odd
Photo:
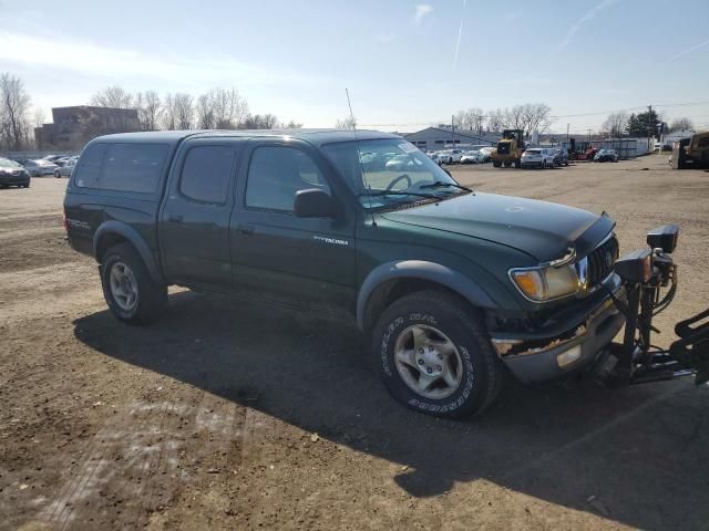
[[[573,264],[511,269],[510,278],[524,296],[535,302],[559,299],[580,289]]]

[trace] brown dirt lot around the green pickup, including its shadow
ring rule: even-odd
[[[708,305],[709,174],[665,158],[453,171],[607,210],[624,251],[680,223],[666,345]],[[442,421],[387,395],[349,323],[175,291],[129,327],[62,240],[65,183],[0,190],[1,528],[709,525],[709,387],[510,382],[482,418]]]

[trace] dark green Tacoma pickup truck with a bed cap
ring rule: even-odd
[[[391,394],[439,416],[485,409],[505,371],[587,369],[625,323],[607,215],[471,190],[387,133],[103,136],[64,216],[121,321],[160,317],[171,284],[337,308]]]

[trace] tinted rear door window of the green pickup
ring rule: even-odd
[[[226,202],[235,157],[230,146],[195,146],[189,149],[179,178],[181,194],[201,202]]]

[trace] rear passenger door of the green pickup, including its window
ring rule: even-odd
[[[171,283],[230,287],[229,219],[242,146],[235,138],[195,138],[177,154],[160,221]]]

